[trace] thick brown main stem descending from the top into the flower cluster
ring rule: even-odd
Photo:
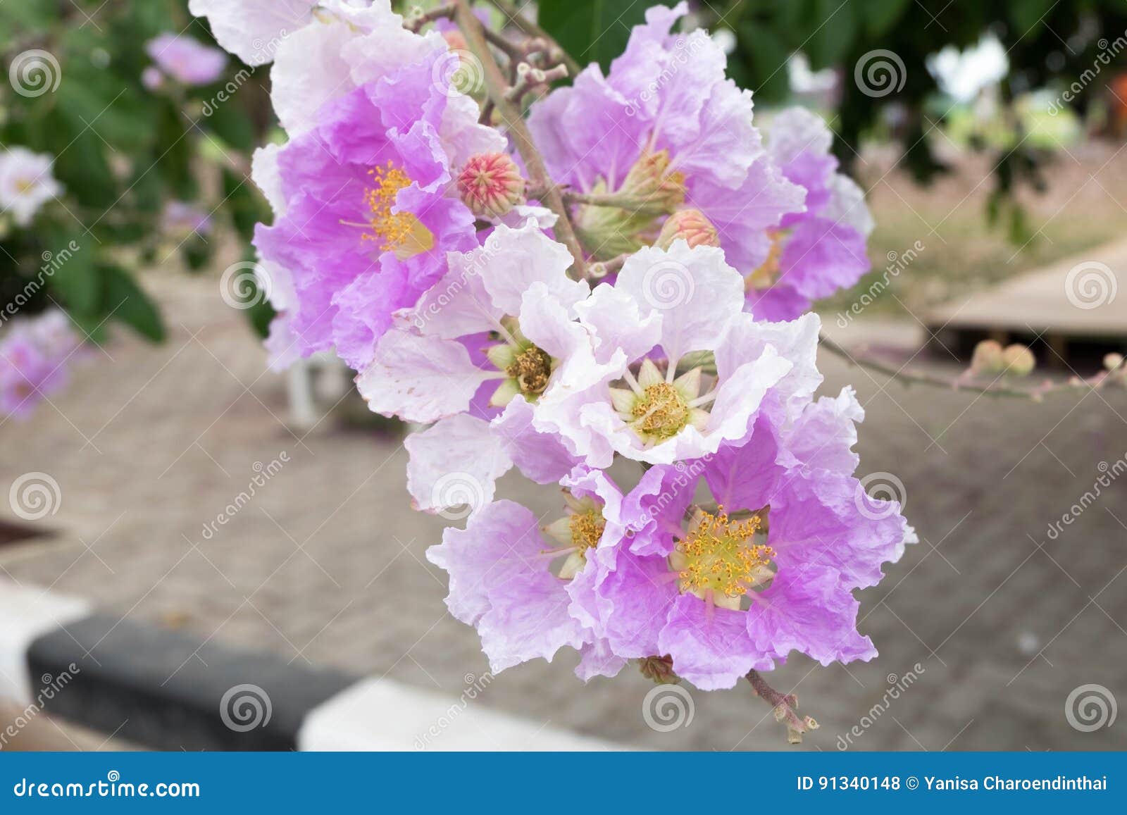
[[[513,140],[516,142],[516,149],[521,153],[521,158],[524,159],[525,166],[529,168],[529,180],[532,183],[533,187],[544,189],[543,197],[541,201],[548,205],[548,207],[556,213],[558,220],[556,221],[556,237],[564,243],[568,250],[571,253],[571,257],[575,258],[575,269],[576,275],[579,278],[587,276],[587,262],[584,258],[583,247],[579,245],[579,239],[575,236],[575,230],[571,227],[571,216],[564,204],[564,197],[560,195],[559,189],[548,175],[548,168],[544,166],[544,159],[536,150],[535,142],[532,140],[532,133],[529,131],[529,126],[524,123],[524,117],[521,112],[505,98],[508,91],[508,82],[505,81],[505,74],[500,70],[500,65],[494,59],[492,53],[489,51],[489,45],[486,43],[486,37],[483,34],[483,26],[481,20],[473,16],[473,11],[470,9],[470,3],[468,0],[454,0],[454,21],[458,27],[462,30],[465,36],[465,42],[470,46],[470,50],[481,60],[482,74],[485,76],[486,90],[489,94],[489,99],[492,101],[497,114],[500,116],[502,121],[505,123],[506,129],[512,134]]]

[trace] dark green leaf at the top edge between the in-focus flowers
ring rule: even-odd
[[[540,26],[556,37],[579,64],[597,62],[606,71],[622,53],[630,29],[646,20],[654,3],[621,0],[551,0],[541,2]],[[672,6],[672,0],[662,5]]]

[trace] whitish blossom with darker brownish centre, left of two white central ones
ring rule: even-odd
[[[571,387],[573,369],[601,370],[588,329],[575,319],[591,290],[568,277],[571,262],[535,220],[516,229],[500,224],[483,246],[452,253],[445,277],[397,313],[376,344],[372,364],[356,378],[369,407],[436,423],[406,442],[417,508],[477,508],[513,464],[548,484],[577,462],[533,426],[534,406]],[[462,493],[444,480],[451,472],[473,485],[476,499],[459,499]]]

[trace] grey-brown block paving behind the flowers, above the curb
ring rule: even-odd
[[[53,404],[0,425],[0,486],[42,471],[62,495],[35,524],[55,534],[0,548],[2,570],[123,618],[460,696],[487,665],[474,631],[445,613],[445,576],[424,557],[445,522],[408,510],[399,442],[335,422],[291,432],[283,379],[215,282],[152,285],[167,344],[123,335]],[[829,356],[823,369],[827,392],[855,386],[861,472],[903,480],[921,542],[861,595],[877,659],[795,658],[771,676],[822,724],[797,748],[1127,747],[1127,723],[1082,732],[1065,710],[1088,684],[1127,703],[1127,478],[1048,535],[1127,454],[1127,391],[1035,405],[906,389]],[[502,494],[538,513],[558,500],[513,478]],[[642,717],[648,681],[630,671],[584,685],[573,666],[512,668],[473,703],[636,746],[791,748],[749,688],[691,690],[691,724],[662,733]]]

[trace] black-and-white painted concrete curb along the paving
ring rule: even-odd
[[[232,650],[0,581],[0,699],[26,718],[44,712],[157,750],[619,748],[474,697]]]

